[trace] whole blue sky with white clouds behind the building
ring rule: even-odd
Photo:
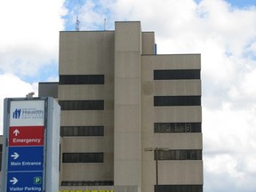
[[[158,53],[201,53],[204,192],[256,191],[256,0],[0,0],[0,119],[4,98],[58,81],[77,15],[81,30],[140,20]]]

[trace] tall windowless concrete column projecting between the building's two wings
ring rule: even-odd
[[[141,186],[141,28],[116,22],[115,186]]]

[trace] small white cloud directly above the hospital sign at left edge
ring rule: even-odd
[[[28,84],[20,79],[19,76],[14,76],[11,73],[0,75],[0,118],[3,120],[4,98],[24,98],[28,92],[35,92],[38,95],[38,84]],[[3,132],[3,121],[0,124],[0,134]]]

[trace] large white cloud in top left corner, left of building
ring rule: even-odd
[[[0,1],[0,72],[35,76],[57,62],[66,13],[62,4],[64,0]]]

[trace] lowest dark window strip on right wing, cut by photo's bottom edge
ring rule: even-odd
[[[203,192],[203,185],[155,185],[155,192]]]

